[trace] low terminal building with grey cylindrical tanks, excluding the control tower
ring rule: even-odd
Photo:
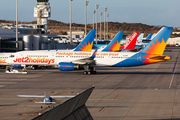
[[[23,30],[21,29],[21,31]],[[70,44],[69,35],[18,34],[18,50],[73,49],[83,40],[83,38],[79,38],[79,35],[73,35],[73,37],[73,44]],[[0,27],[0,52],[15,51],[16,33]]]

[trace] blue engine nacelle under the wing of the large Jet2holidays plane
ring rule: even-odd
[[[79,65],[75,65],[74,63],[66,63],[60,62],[59,63],[59,70],[61,71],[70,71],[70,70],[78,70]]]

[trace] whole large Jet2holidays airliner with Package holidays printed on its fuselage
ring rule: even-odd
[[[96,74],[97,67],[131,67],[163,62],[171,56],[163,55],[172,27],[163,27],[151,42],[138,52],[84,51],[22,51],[12,54],[7,63],[22,65],[58,65],[60,71],[81,70]]]

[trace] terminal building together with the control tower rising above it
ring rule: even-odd
[[[18,25],[18,51],[73,49],[84,38],[84,32],[74,32],[70,44],[69,35],[52,35],[48,30],[48,18],[51,16],[49,0],[37,0],[34,17],[37,24]],[[16,51],[16,25],[0,25],[0,52]]]

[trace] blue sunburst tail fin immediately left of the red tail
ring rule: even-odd
[[[120,49],[121,40],[123,37],[123,31],[119,31],[113,40],[105,47],[102,52],[118,51]]]

